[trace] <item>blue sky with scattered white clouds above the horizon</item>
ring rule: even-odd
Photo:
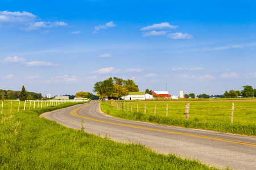
[[[256,88],[254,1],[1,0],[0,88],[75,95],[117,76],[171,95]]]

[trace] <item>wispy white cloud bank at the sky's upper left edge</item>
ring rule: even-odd
[[[9,12],[0,11],[0,27],[15,27],[18,26],[21,30],[31,31],[39,28],[52,28],[66,26],[64,22],[36,22],[38,17],[30,12]]]

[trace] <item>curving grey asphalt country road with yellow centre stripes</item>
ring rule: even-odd
[[[107,134],[114,141],[139,143],[162,154],[197,159],[217,168],[256,169],[256,137],[122,120],[102,113],[96,100],[40,117],[74,129],[81,129],[84,120],[88,133]]]

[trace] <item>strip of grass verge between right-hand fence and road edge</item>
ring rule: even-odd
[[[195,128],[195,129],[206,129],[214,131],[222,131],[227,133],[235,133],[242,135],[256,135],[255,124],[242,124],[229,121],[220,120],[209,120],[204,121],[199,118],[185,120],[184,115],[181,117],[166,117],[159,114],[144,114],[142,112],[127,112],[119,111],[117,108],[113,107],[108,103],[101,102],[101,111],[109,114],[111,116],[125,118],[127,120],[153,122],[156,124],[180,126],[184,128]]]

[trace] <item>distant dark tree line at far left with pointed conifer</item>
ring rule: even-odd
[[[35,92],[26,91],[25,87],[22,86],[22,91],[14,90],[2,90],[0,89],[1,100],[37,100],[42,99],[42,94]]]

